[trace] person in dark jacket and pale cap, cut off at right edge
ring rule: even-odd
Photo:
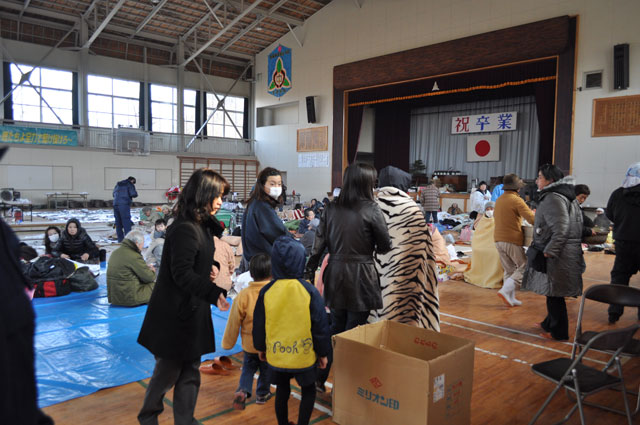
[[[613,222],[616,244],[611,283],[629,286],[631,276],[640,271],[640,162],[629,167],[622,187],[611,194],[607,203],[607,217]],[[609,323],[617,322],[623,312],[623,306],[610,305]]]

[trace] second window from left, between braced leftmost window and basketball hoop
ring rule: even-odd
[[[87,89],[90,126],[140,126],[140,83],[89,75]]]

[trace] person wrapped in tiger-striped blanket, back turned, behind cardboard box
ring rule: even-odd
[[[392,166],[380,171],[377,204],[382,210],[392,249],[377,254],[382,304],[369,323],[393,320],[440,331],[438,280],[431,234],[424,214],[406,193],[411,176]]]

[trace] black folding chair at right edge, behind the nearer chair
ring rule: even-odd
[[[604,304],[619,304],[625,307],[640,307],[640,289],[625,286],[625,285],[594,285],[587,289],[583,296],[582,301],[580,303],[580,312],[578,313],[578,323],[576,325],[576,336],[573,341],[573,350],[571,352],[571,358],[574,358],[576,353],[584,347],[587,342],[593,338],[598,332],[596,331],[584,331],[582,329],[582,317],[584,313],[585,300],[592,300]],[[609,339],[602,339],[596,345],[592,346],[592,350],[601,351],[608,354],[613,354],[617,349],[617,342],[615,340],[611,341]],[[640,357],[640,340],[632,339],[620,352],[620,355],[623,357]],[[613,363],[613,358],[609,360],[607,365],[602,369],[608,370]],[[632,415],[635,416],[640,412],[640,388],[638,392],[627,390],[627,393],[636,396],[636,408],[633,411]],[[608,410],[610,412],[618,413],[620,415],[624,415],[625,412],[617,409],[612,409],[608,406],[597,405],[595,403],[586,402],[585,404],[595,407],[600,407],[602,409]]]

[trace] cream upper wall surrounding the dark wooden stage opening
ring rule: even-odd
[[[640,93],[640,1],[638,0],[334,0],[256,57],[255,106],[299,101],[298,124],[257,128],[256,154],[262,166],[287,170],[289,188],[303,199],[330,189],[330,168],[297,168],[296,130],[329,126],[333,134],[333,67],[411,48],[522,25],[578,15],[576,86],[582,73],[604,70],[605,87],[576,92],[573,173],[591,186],[587,203],[604,205],[620,185],[626,167],[640,161],[640,136],[591,138],[593,98]],[[292,89],[280,100],[267,93],[267,55],[283,44],[293,51]],[[612,90],[613,45],[630,44],[630,87]],[[390,70],[392,72],[392,70]],[[319,96],[319,121],[306,123],[306,96]]]

